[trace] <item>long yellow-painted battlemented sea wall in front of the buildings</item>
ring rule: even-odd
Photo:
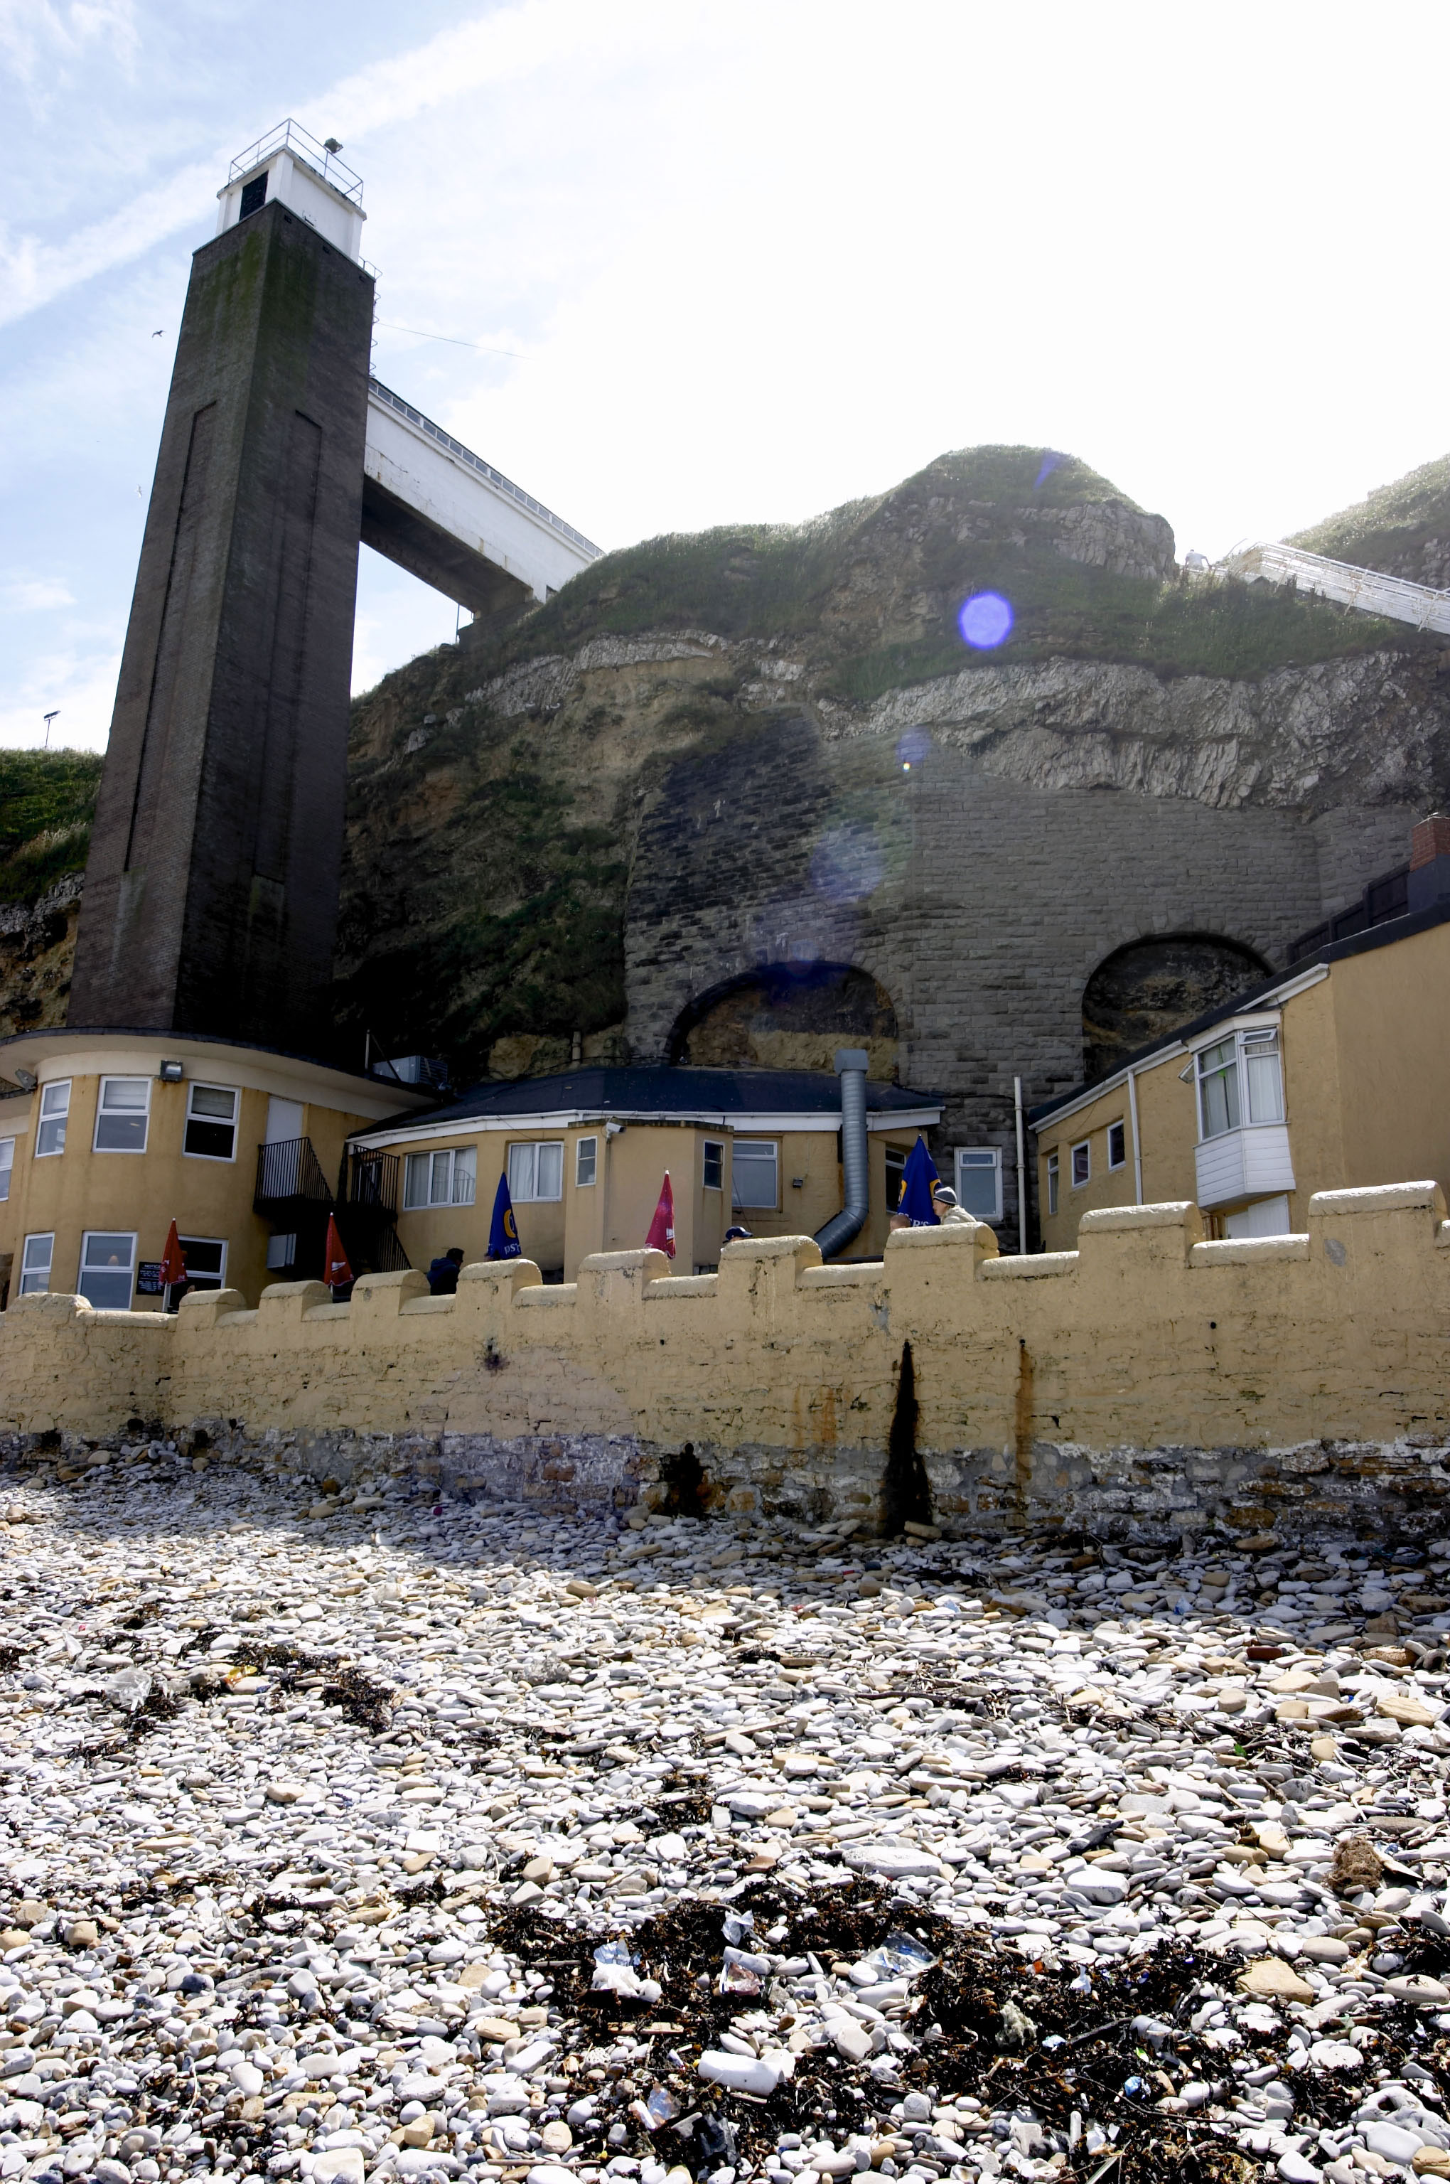
[[[546,1286],[528,1260],[476,1265],[456,1297],[382,1273],[352,1304],[293,1282],[255,1310],[194,1293],[175,1317],[17,1297],[0,1319],[0,1420],[74,1441],[159,1420],[323,1457],[424,1446],[494,1485],[616,1500],[690,1444],[708,1498],[867,1520],[889,1514],[902,1433],[937,1514],[1002,1520],[1055,1507],[1066,1522],[1088,1474],[1122,1483],[1140,1455],[1188,1492],[1225,1452],[1229,1489],[1275,1450],[1312,1476],[1328,1463],[1306,1448],[1360,1446],[1374,1472],[1371,1450],[1415,1444],[1433,1498],[1450,1485],[1435,1184],[1323,1192],[1306,1236],[1203,1243],[1199,1210],[1175,1203],[1088,1214],[1077,1251],[1037,1258],[954,1225],[895,1234],[871,1265],[823,1267],[795,1236],[727,1247],[718,1275],[666,1267],[601,1254]]]

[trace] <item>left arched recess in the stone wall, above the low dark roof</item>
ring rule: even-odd
[[[830,1070],[865,1046],[869,1075],[898,1075],[891,996],[854,963],[762,963],[697,996],[670,1031],[668,1059],[694,1068]]]

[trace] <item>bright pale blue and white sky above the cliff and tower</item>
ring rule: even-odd
[[[378,376],[605,548],[1009,441],[1221,555],[1450,446],[1448,61],[1393,0],[0,0],[0,747],[105,747],[190,253],[284,116],[362,175]],[[362,548],[356,688],[454,625]]]

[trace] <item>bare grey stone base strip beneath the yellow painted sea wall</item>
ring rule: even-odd
[[[0,1463],[74,1476],[100,1455],[148,1435],[2,1435]],[[308,1481],[362,1485],[411,1479],[467,1500],[537,1503],[601,1516],[642,1505],[690,1516],[843,1522],[865,1533],[889,1520],[887,1459],[871,1448],[806,1455],[780,1448],[657,1448],[633,1435],[284,1433],[194,1420],[166,1437],[181,1457],[218,1468],[258,1461]],[[1299,1448],[1114,1448],[1035,1441],[924,1457],[930,1514],[948,1533],[1055,1531],[1063,1540],[1177,1544],[1221,1531],[1273,1531],[1284,1542],[1326,1535],[1428,1540],[1450,1533],[1448,1450],[1426,1441],[1306,1441]]]

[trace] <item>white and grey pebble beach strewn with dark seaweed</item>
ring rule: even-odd
[[[0,1483],[0,2184],[1450,2177],[1450,1540]]]

